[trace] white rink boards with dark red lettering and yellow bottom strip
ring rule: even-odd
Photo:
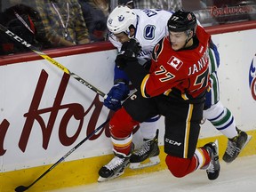
[[[241,156],[256,154],[255,33],[256,29],[252,29],[212,36],[220,51],[221,101],[236,117],[237,126],[253,136]],[[100,91],[108,92],[113,82],[115,58],[116,50],[109,50],[54,59]],[[110,115],[99,95],[68,78],[46,60],[1,65],[0,82],[1,192],[31,184]],[[166,169],[163,119],[159,129],[161,164],[139,171],[127,169],[124,177]],[[217,138],[222,156],[227,139],[205,122],[198,146]],[[140,132],[135,133],[134,140],[140,145]],[[96,182],[100,167],[108,163],[111,154],[108,127],[104,127],[29,191]]]

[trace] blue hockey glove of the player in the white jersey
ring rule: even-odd
[[[129,87],[124,82],[114,84],[107,94],[108,97],[104,100],[104,106],[116,111],[117,109],[121,108],[121,101],[127,97],[129,92]]]

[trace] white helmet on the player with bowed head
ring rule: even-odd
[[[108,30],[113,34],[125,33],[130,35],[130,29],[137,25],[137,15],[127,6],[119,5],[109,14]]]

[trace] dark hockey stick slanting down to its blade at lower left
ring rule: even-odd
[[[97,129],[95,129],[91,134],[89,134],[84,140],[81,140],[74,148],[71,148],[71,150],[68,151],[68,153],[65,156],[62,156],[58,162],[53,164],[48,170],[46,170],[40,177],[38,177],[34,182],[32,182],[29,186],[19,186],[15,188],[16,192],[22,192],[28,190],[28,188],[31,188],[38,180],[41,180],[44,175],[46,175],[48,172],[51,172],[54,167],[56,167],[60,162],[64,161],[64,159],[69,156],[71,153],[73,153],[76,148],[79,148],[86,140],[89,140],[96,132],[99,132],[100,129],[102,129],[105,124],[108,124],[109,119],[107,119],[103,124],[101,124]]]

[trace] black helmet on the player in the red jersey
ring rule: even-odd
[[[191,29],[196,34],[196,16],[193,12],[179,10],[174,12],[168,20],[167,27],[169,31],[183,32]]]

